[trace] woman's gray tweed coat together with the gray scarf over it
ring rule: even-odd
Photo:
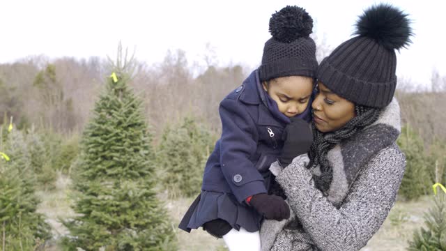
[[[262,250],[360,250],[383,224],[403,178],[406,159],[395,144],[400,132],[399,105],[393,100],[374,125],[328,152],[333,181],[324,196],[314,187],[307,156],[283,171],[271,171],[288,196],[291,218],[265,220]],[[300,222],[299,227],[290,227]]]

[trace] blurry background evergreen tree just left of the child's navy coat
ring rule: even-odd
[[[192,116],[164,130],[157,154],[162,185],[170,197],[196,196],[215,138]]]

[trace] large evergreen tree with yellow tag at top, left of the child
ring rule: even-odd
[[[122,69],[118,67],[118,69]],[[95,103],[73,167],[74,210],[64,222],[69,250],[175,250],[174,233],[153,186],[151,135],[130,75],[116,70]]]

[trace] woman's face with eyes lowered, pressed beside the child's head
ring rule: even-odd
[[[355,104],[332,93],[322,82],[318,82],[312,107],[314,124],[321,132],[334,132],[355,117]]]

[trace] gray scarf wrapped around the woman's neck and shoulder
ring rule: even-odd
[[[395,114],[396,111],[397,114]],[[367,116],[367,119],[360,119],[365,116]],[[324,136],[323,142],[329,141],[331,143],[334,142],[335,138],[339,138],[337,139],[339,142],[330,144],[330,149],[323,156],[323,163],[319,162],[319,165],[312,165],[310,157],[308,166],[312,169],[314,181],[317,184],[316,181],[319,180],[321,187],[325,188],[319,189],[328,196],[328,200],[334,206],[341,204],[348,188],[355,181],[360,167],[363,167],[378,151],[394,143],[399,135],[400,121],[395,119],[399,118],[399,105],[396,100],[385,109],[380,110],[378,114],[376,114],[376,109],[368,109],[367,112],[360,113],[357,118],[359,119],[356,123],[350,121],[348,123],[351,123],[351,126],[346,125],[344,127],[346,128],[344,136],[336,136],[336,133],[330,135],[330,137]],[[370,119],[373,119],[374,123],[362,126],[363,121],[369,121]],[[351,128],[355,128],[355,130]],[[351,136],[346,137],[345,135]],[[342,137],[346,138],[341,139]],[[316,156],[321,156],[321,152],[316,153]],[[321,164],[326,166],[323,167]],[[323,180],[321,176],[324,174],[330,178]],[[329,182],[328,185],[325,184],[327,181]]]

